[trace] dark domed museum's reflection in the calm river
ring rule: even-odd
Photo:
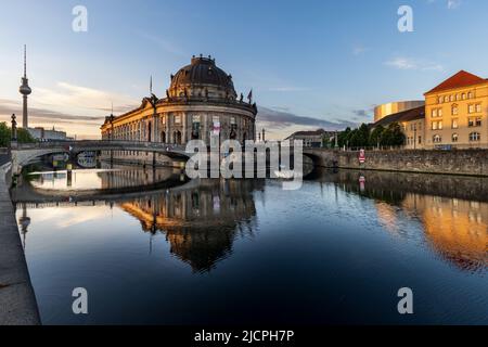
[[[194,189],[168,190],[119,206],[145,232],[165,234],[172,255],[205,272],[232,253],[237,235],[253,233],[253,192],[262,188],[260,181],[202,180]]]

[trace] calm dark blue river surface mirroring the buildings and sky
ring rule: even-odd
[[[486,179],[324,171],[283,191],[165,169],[76,175],[67,191],[50,176],[13,191],[44,324],[488,323]],[[53,179],[61,193],[44,194]],[[72,311],[75,287],[88,316]],[[401,287],[413,316],[398,313]]]

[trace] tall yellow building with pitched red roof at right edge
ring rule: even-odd
[[[459,72],[425,93],[425,149],[488,147],[488,80]]]

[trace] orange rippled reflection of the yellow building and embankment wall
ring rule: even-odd
[[[478,271],[488,266],[488,179],[351,170],[325,170],[314,179],[374,200],[385,230],[424,237],[459,269]],[[419,221],[423,235],[408,234],[406,217]]]

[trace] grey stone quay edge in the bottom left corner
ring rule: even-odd
[[[0,167],[0,325],[38,325],[36,296],[5,182],[8,167]]]

